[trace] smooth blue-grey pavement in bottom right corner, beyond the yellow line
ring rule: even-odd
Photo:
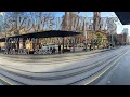
[[[107,82],[107,83],[106,83]],[[130,85],[130,52],[128,52],[109,74],[104,85]]]

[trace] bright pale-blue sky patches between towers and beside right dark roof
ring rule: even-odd
[[[56,13],[57,17],[61,17],[63,15],[64,15],[64,12]],[[93,17],[93,12],[80,12],[79,15],[87,16],[87,17]],[[101,12],[101,17],[117,17],[117,15],[115,14],[115,12]],[[117,24],[117,33],[121,33],[123,28],[128,28],[128,30],[130,31],[130,25],[122,25],[119,19],[118,22],[116,22],[116,24]]]

